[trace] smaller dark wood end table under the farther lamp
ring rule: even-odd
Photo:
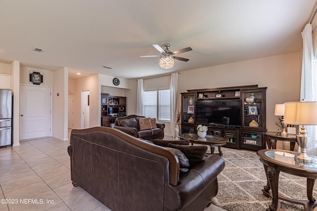
[[[276,141],[288,141],[290,142],[290,150],[294,151],[295,144],[297,143],[296,135],[281,136],[280,134],[280,132],[264,132],[268,149],[276,149]]]

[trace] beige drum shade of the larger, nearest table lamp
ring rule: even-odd
[[[294,125],[317,125],[317,101],[285,103],[284,122]]]

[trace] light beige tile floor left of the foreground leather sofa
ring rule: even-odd
[[[71,184],[68,145],[49,137],[1,148],[0,211],[109,211]],[[214,205],[205,210],[222,211]]]

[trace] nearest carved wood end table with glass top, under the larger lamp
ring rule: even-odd
[[[313,196],[313,189],[315,180],[317,179],[317,164],[314,162],[303,163],[296,161],[295,159],[285,160],[283,157],[281,158],[275,156],[275,152],[287,152],[297,155],[295,152],[285,150],[259,150],[257,152],[261,162],[264,164],[264,170],[267,179],[266,186],[264,186],[262,192],[264,196],[272,198],[272,203],[269,205],[269,208],[266,209],[266,211],[280,211],[281,209],[279,206],[279,199],[286,202],[303,205],[305,211],[315,211],[317,209],[317,203],[315,202],[316,200]],[[278,176],[280,171],[307,178],[307,200],[290,199],[278,195]]]

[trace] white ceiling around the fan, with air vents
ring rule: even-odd
[[[298,52],[316,1],[0,0],[0,59],[132,79]],[[139,57],[164,43],[190,60]]]

